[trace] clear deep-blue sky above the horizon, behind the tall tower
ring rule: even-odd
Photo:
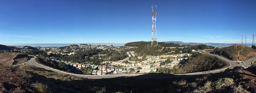
[[[256,0],[0,0],[0,44],[158,41],[247,43]]]

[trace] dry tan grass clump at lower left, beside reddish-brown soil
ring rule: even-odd
[[[35,82],[32,83],[31,86],[33,86],[35,89],[37,89],[39,92],[42,93],[49,93],[49,87],[47,86],[47,84],[42,84],[41,82]]]

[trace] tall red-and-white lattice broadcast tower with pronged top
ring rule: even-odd
[[[155,23],[156,23],[156,16],[157,16],[157,8],[156,8],[156,5],[155,5],[155,13],[154,13],[154,7],[152,5],[152,13],[151,13],[151,16],[152,16],[152,40],[151,40],[151,45],[153,45],[154,41],[156,41],[156,45],[157,44],[157,33],[156,33],[156,26],[155,26]],[[154,38],[154,32],[155,32],[155,38]]]

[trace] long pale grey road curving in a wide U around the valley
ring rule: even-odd
[[[211,53],[208,53],[209,55],[214,55]],[[219,73],[221,71],[225,71],[226,69],[233,69],[235,66],[239,66],[239,64],[237,64],[237,62],[233,62],[231,60],[228,60],[227,58],[221,57],[219,55],[214,55],[218,58],[220,58],[221,60],[224,60],[225,62],[228,62],[230,64],[230,66],[223,68],[223,69],[217,69],[217,70],[213,70],[213,71],[204,71],[204,72],[197,72],[197,73],[184,73],[184,74],[175,74],[175,75],[159,75],[159,74],[116,74],[116,75],[81,75],[81,74],[74,74],[74,73],[67,73],[64,71],[60,71],[58,69],[53,69],[51,67],[48,66],[44,66],[42,64],[39,64],[37,62],[35,62],[35,58],[36,56],[34,55],[29,55],[31,56],[31,59],[28,62],[25,62],[23,64],[30,64],[39,68],[43,68],[49,71],[53,71],[56,73],[61,73],[61,74],[68,74],[68,75],[74,75],[80,78],[89,78],[89,79],[102,79],[102,78],[118,78],[118,77],[134,77],[134,78],[186,78],[186,77],[193,77],[193,76],[197,76],[197,75],[204,75],[204,74],[209,74],[209,73]],[[256,57],[249,59],[248,61],[253,61],[256,60]]]

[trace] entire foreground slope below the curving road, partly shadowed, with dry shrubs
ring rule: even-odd
[[[30,65],[22,65],[18,68],[0,67],[0,70],[4,71],[0,73],[0,92],[11,93],[248,93],[248,91],[256,91],[255,82],[251,82],[255,78],[251,76],[255,75],[239,68],[182,79],[136,77],[85,79],[49,72]],[[239,83],[244,80],[246,81],[240,84],[243,86],[239,86]]]

